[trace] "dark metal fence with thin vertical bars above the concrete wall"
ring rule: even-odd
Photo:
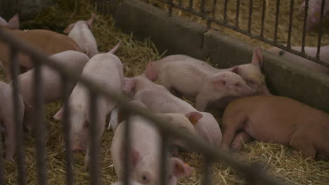
[[[93,0],[96,2],[96,7],[97,10],[100,11],[101,13],[108,13],[108,5],[110,1],[108,0]],[[278,25],[279,25],[279,15],[280,15],[280,0],[276,0],[276,20],[273,25],[274,27],[274,34],[272,39],[266,39],[264,37],[264,22],[265,22],[265,15],[266,15],[266,4],[268,3],[269,0],[262,0],[262,22],[261,22],[261,27],[260,27],[260,33],[259,34],[253,34],[252,33],[252,14],[255,12],[253,8],[254,1],[253,0],[245,0],[249,2],[249,15],[248,15],[248,23],[247,23],[247,29],[243,29],[240,27],[240,22],[239,22],[239,15],[240,15],[240,0],[232,0],[236,1],[236,23],[235,24],[229,24],[228,23],[228,13],[227,13],[227,7],[228,7],[228,0],[224,0],[224,4],[222,4],[224,11],[223,11],[223,16],[222,18],[219,18],[215,15],[219,10],[220,4],[218,4],[217,1],[219,0],[199,0],[201,1],[200,7],[198,8],[193,8],[195,1],[197,0],[186,0],[188,1],[188,6],[184,6],[182,1],[183,0],[156,0],[159,2],[162,2],[163,4],[168,5],[168,14],[169,16],[172,16],[173,14],[173,8],[178,8],[179,10],[186,12],[186,13],[191,13],[192,15],[195,15],[197,17],[200,17],[204,20],[207,21],[207,28],[212,29],[212,23],[215,23],[217,25],[221,25],[224,27],[227,27],[231,30],[235,30],[236,32],[240,32],[242,34],[245,34],[249,37],[252,37],[254,39],[258,39],[259,41],[262,41],[266,44],[271,44],[272,46],[276,46],[280,49],[283,49],[285,51],[288,51],[290,53],[294,53],[297,56],[301,56],[303,58],[307,58],[309,60],[312,60],[316,63],[319,63],[321,65],[325,65],[326,67],[329,67],[329,63],[323,62],[320,58],[320,51],[321,51],[321,40],[322,40],[322,34],[323,34],[323,13],[324,13],[324,8],[325,8],[325,0],[322,0],[321,2],[321,13],[320,13],[320,28],[318,29],[318,44],[317,44],[317,52],[316,56],[308,56],[307,53],[305,53],[305,41],[306,41],[306,35],[307,35],[307,18],[308,18],[308,10],[309,10],[309,1],[310,0],[305,0],[305,6],[304,6],[304,25],[302,31],[302,48],[301,51],[296,51],[291,48],[291,38],[292,38],[292,23],[293,23],[293,15],[294,15],[294,6],[295,6],[295,1],[290,0],[290,15],[289,15],[289,25],[288,25],[288,39],[286,41],[287,45],[279,44],[278,43]],[[231,1],[231,2],[232,2]],[[212,4],[212,8],[210,11],[205,11],[205,4]]]

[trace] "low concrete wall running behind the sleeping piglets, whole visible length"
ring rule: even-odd
[[[135,37],[150,37],[162,52],[181,53],[204,59],[209,57],[219,68],[250,63],[250,46],[238,39],[228,37],[206,27],[191,23],[184,18],[169,17],[150,4],[139,0],[124,0],[114,13],[116,25],[123,32],[134,32]],[[317,74],[287,60],[263,52],[263,72],[273,94],[288,96],[329,113],[329,77]]]

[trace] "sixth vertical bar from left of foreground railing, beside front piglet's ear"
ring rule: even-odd
[[[160,185],[167,185],[168,181],[168,151],[167,151],[167,136],[162,133],[162,141],[160,143]]]

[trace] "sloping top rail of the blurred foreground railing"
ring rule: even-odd
[[[213,162],[226,162],[226,164],[236,168],[236,170],[238,170],[239,172],[242,172],[247,176],[258,177],[260,181],[264,181],[264,183],[266,184],[282,184],[282,182],[269,176],[269,174],[261,174],[258,171],[255,172],[253,170],[254,166],[252,164],[241,162],[240,160],[233,158],[231,154],[226,153],[225,151],[221,151],[219,149],[215,149],[214,147],[210,146],[209,143],[203,141],[202,139],[198,138],[190,132],[181,132],[181,130],[177,129],[174,125],[168,125],[167,122],[164,122],[164,120],[159,119],[158,117],[150,113],[149,110],[147,110],[146,108],[131,105],[127,98],[122,94],[116,94],[114,91],[104,89],[102,85],[99,85],[93,79],[84,77],[78,72],[74,72],[75,70],[67,68],[67,66],[62,65],[60,63],[56,63],[44,53],[35,49],[34,46],[26,44],[25,42],[22,42],[21,40],[11,36],[11,34],[8,34],[8,32],[6,32],[2,28],[0,28],[0,39],[8,43],[9,46],[18,49],[24,53],[28,53],[30,56],[32,56],[32,58],[35,58],[37,61],[48,65],[49,67],[53,68],[54,70],[57,70],[61,74],[66,75],[68,78],[72,80],[77,80],[79,81],[79,83],[86,85],[86,87],[88,87],[89,89],[97,91],[99,96],[104,96],[104,98],[117,101],[122,110],[146,117],[146,119],[150,120],[164,134],[167,134],[167,136],[172,136],[174,138],[193,143],[193,146],[195,146],[196,149],[202,151],[205,155],[209,156],[209,158],[212,158]]]

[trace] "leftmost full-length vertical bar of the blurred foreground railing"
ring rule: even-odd
[[[18,103],[18,51],[11,49],[11,76],[13,85],[13,112],[19,113],[20,106]],[[17,153],[17,165],[18,165],[18,184],[25,184],[25,164],[24,164],[24,151],[23,151],[23,128],[20,120],[22,117],[15,116],[15,129],[16,129],[16,153]]]

